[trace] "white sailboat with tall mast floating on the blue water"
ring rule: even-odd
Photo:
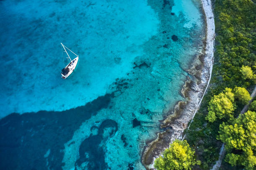
[[[67,53],[67,50],[66,50],[66,46],[65,45],[63,45],[62,43],[61,43],[61,45],[62,45],[62,47],[64,48],[64,52],[66,52]],[[68,48],[67,48],[68,49]],[[68,49],[69,50],[69,49]],[[71,51],[71,50],[69,50],[69,51]],[[76,55],[73,51],[71,51],[74,55]],[[71,60],[71,58],[69,57],[69,54],[67,53],[67,58],[69,58],[69,60],[70,60],[70,62],[69,62],[69,64],[65,67],[65,68],[63,68],[62,70],[61,70],[61,78],[63,78],[64,80],[67,78],[67,77],[69,77],[69,75],[71,75],[71,73],[74,71],[74,69],[76,68],[76,66],[77,66],[77,62],[78,62],[78,55],[76,55],[77,57],[76,58],[74,58],[73,60]]]

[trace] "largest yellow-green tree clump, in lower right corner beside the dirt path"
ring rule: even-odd
[[[238,118],[220,125],[217,139],[225,143],[225,161],[232,166],[243,165],[246,170],[256,168],[256,112],[247,111]]]

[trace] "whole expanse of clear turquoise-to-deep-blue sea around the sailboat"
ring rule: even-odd
[[[1,169],[144,169],[142,149],[184,100],[185,70],[202,50],[200,2],[2,0],[0,7]],[[79,55],[67,80],[60,42]]]

